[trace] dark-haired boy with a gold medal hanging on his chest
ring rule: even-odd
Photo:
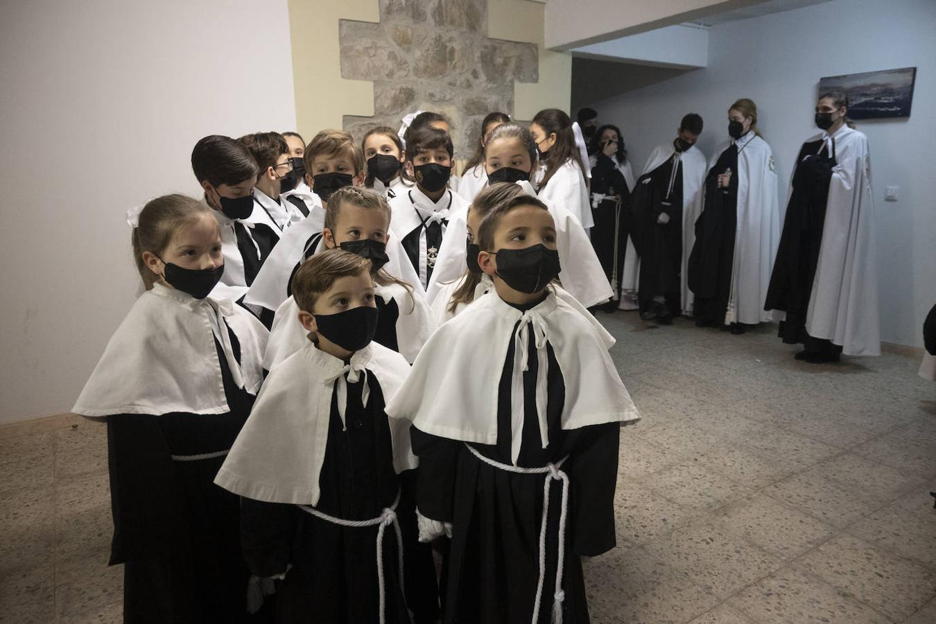
[[[447,188],[453,148],[446,131],[426,125],[407,133],[406,141],[406,175],[416,188],[390,200],[393,231],[428,291],[448,219],[463,216],[468,202]]]

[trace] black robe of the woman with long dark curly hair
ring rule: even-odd
[[[592,167],[592,193],[607,197],[592,209],[592,247],[616,298],[621,298],[624,251],[631,230],[631,190],[613,160],[602,152],[597,158]]]

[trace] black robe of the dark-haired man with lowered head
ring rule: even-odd
[[[669,191],[673,157],[636,181],[631,196],[634,247],[640,256],[637,301],[641,312],[653,297],[665,297],[672,314],[679,314],[680,273],[682,271],[682,162]],[[668,195],[667,195],[668,192]],[[669,215],[665,224],[657,223],[661,212]]]

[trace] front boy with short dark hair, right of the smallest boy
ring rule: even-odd
[[[620,425],[639,416],[595,329],[549,285],[555,237],[532,196],[485,216],[494,292],[436,330],[386,408],[413,423],[420,539],[451,532],[446,622],[588,622],[579,556],[615,544]]]

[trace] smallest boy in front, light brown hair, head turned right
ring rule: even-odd
[[[316,254],[293,292],[309,341],[271,372],[215,479],[243,497],[244,557],[278,579],[278,622],[432,621],[431,554],[404,472],[417,459],[384,412],[409,365],[372,341],[371,263]]]

